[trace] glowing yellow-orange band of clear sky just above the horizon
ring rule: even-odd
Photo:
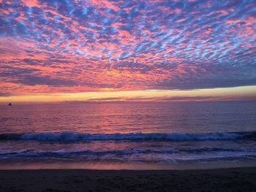
[[[107,92],[109,91],[109,92]],[[7,102],[59,102],[59,101],[237,101],[255,100],[256,86],[236,88],[211,88],[197,90],[143,90],[83,93],[37,93],[0,96]]]

